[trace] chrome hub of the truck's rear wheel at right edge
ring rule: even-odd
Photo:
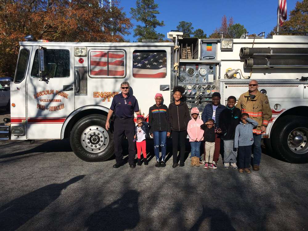
[[[288,136],[289,148],[297,154],[308,152],[307,136],[307,128],[295,128]]]

